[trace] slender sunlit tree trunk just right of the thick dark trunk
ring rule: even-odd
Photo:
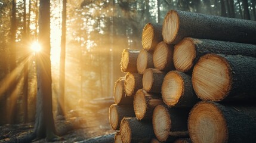
[[[61,26],[61,51],[60,51],[60,91],[58,93],[57,114],[64,116],[65,114],[65,59],[66,59],[66,9],[67,0],[63,0],[62,8],[62,26]]]

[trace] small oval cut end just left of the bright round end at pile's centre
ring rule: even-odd
[[[142,78],[142,84],[143,84],[143,89],[145,91],[150,91],[153,85],[153,71],[152,69],[147,69],[144,71],[143,78]]]

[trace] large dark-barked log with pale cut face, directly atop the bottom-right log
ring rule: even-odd
[[[256,58],[207,54],[192,73],[193,88],[202,100],[255,101]]]

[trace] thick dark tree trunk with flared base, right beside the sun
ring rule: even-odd
[[[47,141],[55,141],[58,137],[55,136],[51,91],[50,0],[40,0],[38,23],[42,51],[36,59],[38,92],[34,132],[38,138],[46,136]]]

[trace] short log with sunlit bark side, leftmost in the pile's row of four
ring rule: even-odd
[[[122,72],[137,72],[137,58],[140,50],[124,49],[121,59]]]

